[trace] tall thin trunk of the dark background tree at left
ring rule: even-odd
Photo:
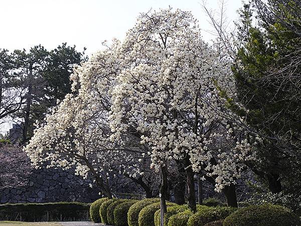
[[[27,141],[27,133],[28,133],[28,127],[29,127],[29,117],[30,117],[30,108],[32,104],[32,79],[33,79],[33,66],[30,65],[29,67],[29,84],[28,84],[28,92],[27,92],[27,98],[26,98],[26,109],[25,109],[25,119],[24,119],[24,125],[23,125],[23,143],[26,143]]]

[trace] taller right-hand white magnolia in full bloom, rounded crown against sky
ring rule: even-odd
[[[234,95],[230,61],[202,41],[192,15],[171,9],[141,14],[120,54],[124,67],[112,91],[112,138],[135,128],[152,148],[152,167],[162,172],[169,160],[181,160],[192,210],[194,172],[213,177],[217,191],[235,184],[250,145],[236,127],[243,119],[225,107],[221,93]],[[237,206],[231,195],[228,203]]]

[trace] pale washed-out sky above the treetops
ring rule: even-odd
[[[218,0],[207,0],[218,10]],[[88,55],[101,49],[104,40],[123,39],[136,17],[150,8],[192,11],[200,27],[212,30],[202,0],[0,0],[0,48],[9,50],[43,45],[53,49],[62,42],[87,48]],[[241,0],[226,1],[229,22],[237,18]],[[204,40],[213,37],[204,31]]]

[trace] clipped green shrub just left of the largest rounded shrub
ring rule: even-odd
[[[236,211],[236,209],[237,208],[233,207],[211,207],[203,209],[189,217],[187,226],[203,226],[211,221],[225,219]]]

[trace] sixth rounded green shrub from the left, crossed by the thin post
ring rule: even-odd
[[[167,206],[177,205],[176,203],[167,202]],[[155,226],[155,212],[160,209],[160,202],[145,206],[138,215],[139,226]]]

